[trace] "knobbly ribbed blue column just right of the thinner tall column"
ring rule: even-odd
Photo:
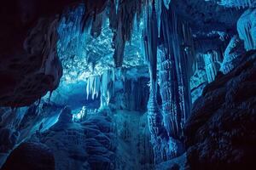
[[[166,53],[166,48],[159,49],[160,59],[160,94],[164,122],[169,136],[178,137],[181,133],[181,108],[178,101],[178,82],[175,60]]]

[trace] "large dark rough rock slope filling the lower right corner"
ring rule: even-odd
[[[243,169],[256,156],[256,51],[242,56],[227,75],[218,74],[195,101],[185,126],[187,166]]]

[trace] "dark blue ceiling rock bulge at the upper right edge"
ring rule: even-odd
[[[243,11],[238,8],[225,8],[205,0],[172,0],[172,4],[177,13],[190,22],[193,30],[202,31],[201,33],[235,31],[236,20]]]

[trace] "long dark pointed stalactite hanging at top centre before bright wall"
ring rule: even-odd
[[[141,16],[143,1],[110,0],[109,20],[113,31],[113,59],[115,67],[121,67],[124,60],[125,43],[131,40],[134,21]]]

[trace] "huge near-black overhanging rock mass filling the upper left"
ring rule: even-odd
[[[56,2],[27,1],[27,6],[25,2],[15,1],[4,3],[0,9],[3,12],[0,16],[2,106],[31,105],[55,90],[62,76],[56,54],[58,10],[48,8]],[[59,7],[64,8],[63,4]]]

